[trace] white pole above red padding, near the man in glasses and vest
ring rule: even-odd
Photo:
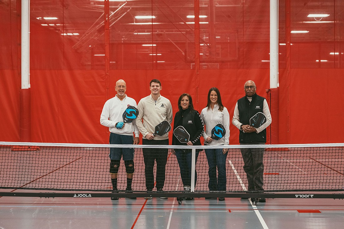
[[[278,87],[278,0],[270,0],[270,88]]]

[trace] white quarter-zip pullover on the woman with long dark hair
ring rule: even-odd
[[[208,109],[208,107],[203,108],[201,111],[201,119],[205,124],[205,131],[203,133],[204,144],[205,145],[229,145],[229,112],[226,107],[223,111],[218,110],[218,105],[214,106],[214,109]],[[222,139],[213,140],[211,142],[206,142],[208,137],[212,136],[212,129],[217,125],[222,124],[226,130],[226,134]]]

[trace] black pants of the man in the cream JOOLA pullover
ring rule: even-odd
[[[147,140],[142,139],[142,145],[168,145],[169,140]],[[165,183],[165,168],[167,163],[169,149],[159,148],[142,148],[143,160],[144,160],[144,173],[146,177],[147,190],[153,190],[154,188],[154,161],[157,162],[157,175],[155,185],[157,189],[163,188]]]

